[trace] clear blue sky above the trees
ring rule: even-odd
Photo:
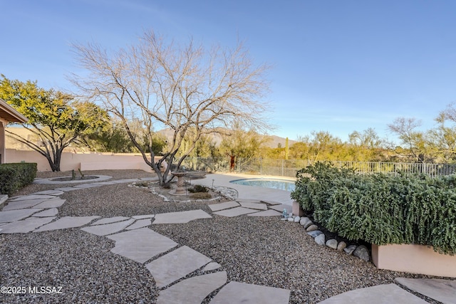
[[[456,1],[0,0],[0,73],[72,90],[71,43],[121,48],[144,31],[210,46],[244,41],[268,63],[274,135],[342,140],[456,101]]]

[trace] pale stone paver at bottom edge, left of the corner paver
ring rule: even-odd
[[[427,304],[425,300],[418,298],[412,293],[400,288],[393,283],[377,285],[367,288],[347,291],[340,295],[334,295],[319,304],[343,304],[343,303],[407,303],[407,304]],[[211,302],[212,304],[212,302]]]

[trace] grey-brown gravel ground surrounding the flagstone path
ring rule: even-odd
[[[113,179],[152,176],[140,170],[84,174]],[[65,175],[68,172],[40,172],[38,177]],[[66,186],[71,184],[31,184],[17,194]],[[61,198],[67,201],[59,208],[59,216],[210,212],[207,203],[163,201],[147,189],[128,184],[66,192]],[[398,276],[425,277],[378,270],[372,263],[318,246],[300,225],[278,218],[214,215],[188,224],[150,228],[221,264],[229,281],[290,289],[290,303],[318,303],[348,290],[393,283]],[[111,253],[113,246],[113,241],[79,229],[0,234],[0,285],[62,287],[62,294],[56,295],[0,295],[0,303],[155,303],[158,290],[150,273],[142,264]]]

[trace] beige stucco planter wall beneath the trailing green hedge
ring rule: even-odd
[[[372,245],[372,261],[379,269],[456,278],[456,256],[423,245]]]

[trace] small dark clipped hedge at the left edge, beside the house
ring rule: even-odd
[[[36,177],[36,163],[0,164],[0,194],[14,194]]]

